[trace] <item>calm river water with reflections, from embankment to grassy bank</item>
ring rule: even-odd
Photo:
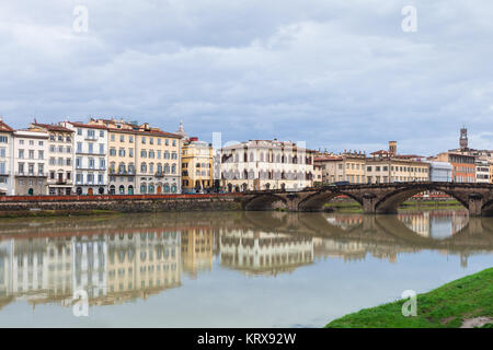
[[[0,327],[323,327],[492,253],[461,210],[2,220]]]

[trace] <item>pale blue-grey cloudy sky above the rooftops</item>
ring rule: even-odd
[[[1,1],[0,115],[424,155],[466,125],[493,149],[492,18],[491,0]]]

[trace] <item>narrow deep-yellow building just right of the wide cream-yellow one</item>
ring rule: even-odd
[[[175,133],[182,136],[182,191],[200,192],[214,186],[213,144],[188,138],[183,124]]]

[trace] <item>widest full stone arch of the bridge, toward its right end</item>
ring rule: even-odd
[[[444,188],[439,185],[433,184],[416,184],[411,187],[398,187],[395,190],[387,194],[381,199],[379,199],[375,205],[376,213],[397,213],[398,208],[409,198],[419,195],[423,191],[427,190],[437,190],[444,194],[449,195],[450,197],[457,199],[466,209],[469,209],[469,203],[467,198],[463,198],[461,195],[450,190],[448,188]]]

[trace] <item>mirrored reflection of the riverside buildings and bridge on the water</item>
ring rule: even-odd
[[[287,212],[167,213],[5,221],[0,226],[0,308],[14,300],[91,305],[147,299],[217,266],[276,276],[319,259],[398,260],[434,249],[493,252],[493,219],[466,211],[364,215]]]

